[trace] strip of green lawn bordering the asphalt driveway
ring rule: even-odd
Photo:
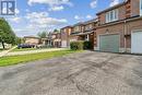
[[[0,58],[0,67],[25,63],[28,61],[35,61],[35,60],[40,60],[40,59],[62,57],[62,56],[73,54],[73,52],[80,52],[80,50],[79,51],[60,50],[60,51],[40,52],[40,54],[32,54],[32,55],[23,55],[23,56],[2,57]]]

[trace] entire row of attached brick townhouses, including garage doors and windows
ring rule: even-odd
[[[90,40],[94,50],[142,54],[142,0],[125,0],[96,15],[97,19],[61,28],[56,46]]]

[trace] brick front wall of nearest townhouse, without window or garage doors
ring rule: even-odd
[[[118,21],[106,23],[106,13],[118,9]],[[108,10],[97,13],[98,26],[96,27],[95,50],[99,50],[99,35],[120,35],[120,52],[131,51],[131,33],[142,31],[142,17],[140,16],[140,0],[128,0]]]

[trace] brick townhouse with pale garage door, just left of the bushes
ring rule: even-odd
[[[61,47],[70,47],[70,41],[78,40],[76,36],[71,35],[72,26],[62,27],[60,32],[61,32]]]

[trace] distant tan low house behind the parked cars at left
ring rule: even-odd
[[[40,41],[38,37],[34,37],[34,36],[25,36],[24,40],[25,44],[31,44],[31,45],[38,45]]]

